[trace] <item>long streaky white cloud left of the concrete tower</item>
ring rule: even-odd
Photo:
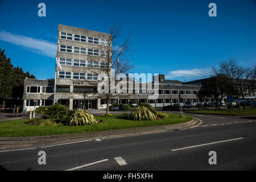
[[[55,43],[28,36],[15,35],[10,32],[0,31],[0,40],[26,47],[32,52],[37,52],[48,57],[55,57],[57,52],[57,45]]]

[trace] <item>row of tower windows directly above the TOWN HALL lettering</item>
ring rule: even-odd
[[[73,77],[72,77],[73,76]],[[98,74],[94,73],[77,73],[77,72],[59,72],[59,78],[79,79],[79,80],[98,80]]]

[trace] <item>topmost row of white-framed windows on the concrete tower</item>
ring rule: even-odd
[[[103,46],[110,45],[109,40],[92,38],[89,36],[86,37],[86,36],[77,35],[77,34],[68,34],[66,32],[60,32],[60,38],[67,39],[67,40],[75,40],[75,41],[79,41],[79,42],[87,42],[87,43],[92,43],[92,44],[101,44]]]

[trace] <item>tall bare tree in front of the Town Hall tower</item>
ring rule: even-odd
[[[100,58],[92,55],[89,56],[89,59],[91,61],[90,63],[93,64],[98,63],[98,60],[101,61],[98,67],[92,67],[92,72],[93,74],[96,74],[96,76],[105,75],[104,77],[99,77],[100,80],[98,81],[107,81],[107,84],[101,86],[100,88],[101,90],[105,90],[105,92],[96,94],[98,97],[106,101],[106,114],[109,114],[110,100],[113,98],[125,97],[124,94],[114,93],[115,90],[113,90],[112,84],[115,80],[113,79],[115,79],[115,76],[117,76],[118,73],[119,75],[126,75],[127,72],[131,71],[131,69],[134,68],[134,64],[131,62],[132,55],[130,34],[127,36],[127,38],[123,38],[121,27],[117,27],[114,24],[110,28],[110,34],[107,42],[104,43],[104,45],[101,45],[101,49],[100,52],[98,52],[98,54]]]

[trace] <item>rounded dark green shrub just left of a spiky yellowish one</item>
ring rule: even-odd
[[[67,107],[59,103],[49,106],[46,110],[46,114],[51,119],[63,119],[65,118],[65,115],[67,113],[68,113]]]

